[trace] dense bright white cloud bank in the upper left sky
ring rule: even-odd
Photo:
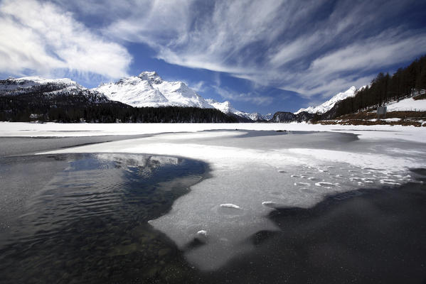
[[[55,4],[5,0],[0,5],[2,72],[68,72],[117,78],[132,60],[126,48],[92,33]]]

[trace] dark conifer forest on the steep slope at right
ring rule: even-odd
[[[314,120],[334,119],[337,116],[375,108],[386,102],[412,97],[424,89],[426,89],[426,55],[408,67],[398,69],[393,75],[380,72],[371,81],[370,86],[358,90],[354,97],[340,101],[325,114],[316,115]]]

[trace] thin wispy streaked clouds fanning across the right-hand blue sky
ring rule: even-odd
[[[104,29],[166,62],[228,72],[305,97],[366,84],[421,55],[426,31],[395,26],[416,1],[151,1]],[[141,14],[142,13],[142,14]]]

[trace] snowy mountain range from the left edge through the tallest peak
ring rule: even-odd
[[[235,109],[230,102],[216,102],[204,99],[183,82],[167,82],[156,72],[142,72],[137,77],[125,77],[115,83],[101,84],[97,88],[87,89],[77,82],[63,79],[46,79],[42,77],[9,77],[0,80],[1,95],[25,93],[43,93],[48,96],[58,94],[83,95],[92,102],[112,100],[132,107],[199,107],[201,109],[218,109],[225,114],[240,116],[242,121],[269,120],[272,114],[263,116],[257,112],[247,113]]]

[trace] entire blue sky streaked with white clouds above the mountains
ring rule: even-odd
[[[425,55],[425,15],[422,0],[0,0],[0,78],[156,71],[242,111],[297,111]]]

